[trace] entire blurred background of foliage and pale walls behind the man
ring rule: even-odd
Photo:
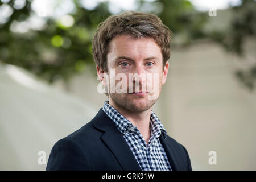
[[[0,169],[44,170],[53,144],[94,117],[108,100],[97,92],[94,32],[134,10],[173,32],[153,110],[193,170],[256,170],[255,9],[254,0],[0,0]]]

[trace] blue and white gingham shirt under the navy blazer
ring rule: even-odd
[[[167,132],[153,111],[151,111],[150,115],[151,135],[148,146],[137,127],[127,118],[123,117],[114,107],[110,106],[108,101],[105,101],[103,111],[112,119],[115,126],[117,126],[118,130],[123,134],[142,171],[172,170],[166,152],[158,138],[161,133],[166,137]]]

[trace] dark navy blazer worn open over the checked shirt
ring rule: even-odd
[[[184,146],[159,137],[172,170],[192,170]],[[102,108],[79,130],[60,139],[51,150],[46,170],[139,171],[141,168],[125,138]]]

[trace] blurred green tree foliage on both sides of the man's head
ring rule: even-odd
[[[84,71],[86,65],[93,63],[92,38],[98,23],[111,15],[108,1],[86,9],[80,1],[73,0],[74,11],[59,19],[44,18],[43,28],[28,30],[25,30],[26,26],[33,25],[28,20],[35,15],[31,8],[32,0],[26,0],[25,5],[17,2],[0,0],[0,11],[3,5],[8,5],[13,11],[5,22],[0,19],[0,61],[26,68],[49,82],[59,79],[68,81],[76,73]],[[232,7],[236,16],[232,19],[230,30],[212,32],[204,31],[208,12],[196,11],[187,0],[138,0],[137,5],[138,11],[157,14],[175,37],[181,38],[183,45],[189,45],[196,39],[210,38],[227,51],[242,56],[245,38],[255,36],[254,0],[243,0],[240,6]],[[15,28],[24,32],[15,32]],[[250,89],[255,85],[255,70],[253,67],[246,72],[237,72],[238,79]]]

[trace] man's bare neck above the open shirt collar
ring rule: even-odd
[[[120,114],[129,119],[129,121],[137,127],[148,144],[148,140],[150,139],[150,115],[152,107],[146,111],[135,113],[116,105],[112,100],[109,100],[109,105],[113,106]]]

